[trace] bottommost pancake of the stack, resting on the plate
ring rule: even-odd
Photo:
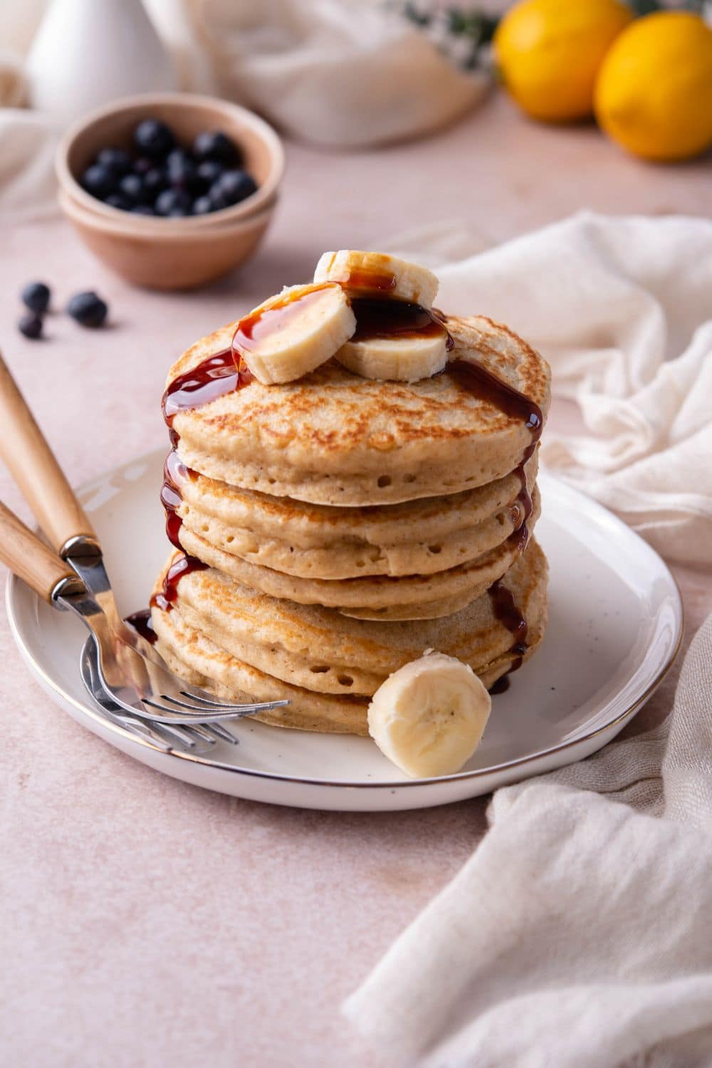
[[[534,584],[531,599],[534,603],[545,601],[547,566],[543,553],[532,543],[527,556],[531,560]],[[195,572],[194,572],[195,574]],[[202,572],[205,574],[205,572]],[[188,581],[192,576],[183,581]],[[211,638],[186,623],[179,611],[164,612],[154,608],[154,627],[158,635],[157,648],[169,666],[179,677],[202,686],[217,697],[231,701],[267,701],[287,697],[286,708],[259,713],[255,719],[274,726],[295,727],[335,734],[367,735],[366,713],[368,697],[351,694],[328,694],[307,690],[284,681],[265,671],[240,660],[222,648]],[[521,658],[526,661],[538,648],[545,627],[545,603],[529,624],[528,647]],[[511,639],[511,635],[509,635]],[[418,655],[423,650],[420,650]],[[511,670],[520,660],[518,653],[509,649],[476,669],[476,674],[487,687]]]

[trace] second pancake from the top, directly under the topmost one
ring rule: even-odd
[[[533,458],[529,493],[535,474]],[[371,508],[269,499],[204,475],[181,478],[179,491],[184,525],[215,548],[298,578],[327,580],[447,570],[501,545],[525,514],[515,473],[453,498]]]

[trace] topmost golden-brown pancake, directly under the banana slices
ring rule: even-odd
[[[517,334],[484,316],[448,317],[453,360],[474,360],[539,406],[550,404],[547,362]],[[191,346],[169,384],[230,347],[233,323]],[[332,506],[450,494],[513,471],[532,433],[468,389],[452,364],[416,382],[376,381],[334,360],[282,386],[253,380],[178,411],[173,429],[188,467],[273,497]]]

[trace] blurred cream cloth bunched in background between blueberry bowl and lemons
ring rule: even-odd
[[[314,144],[422,136],[462,115],[490,84],[481,72],[458,70],[385,4],[185,2],[221,93]]]

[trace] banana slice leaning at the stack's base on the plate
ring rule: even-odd
[[[477,749],[491,704],[469,664],[432,653],[378,688],[368,706],[368,733],[413,779],[453,774]]]

